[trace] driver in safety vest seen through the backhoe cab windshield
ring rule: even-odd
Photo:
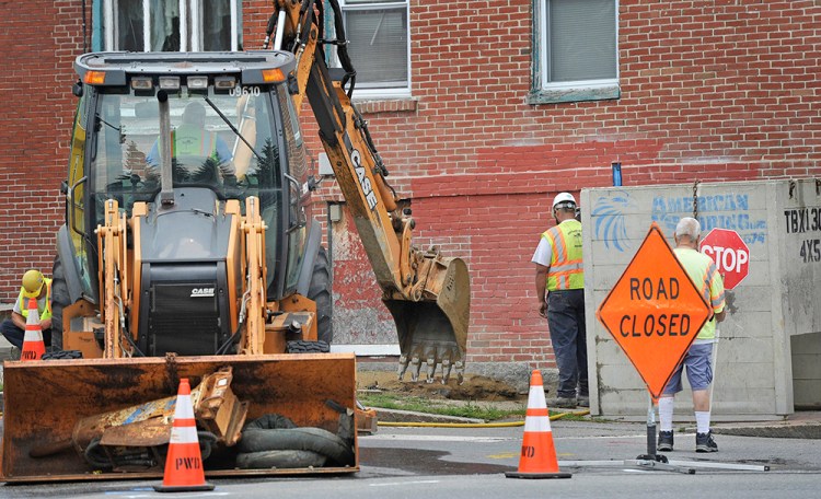
[[[231,149],[216,132],[205,129],[206,109],[199,102],[190,102],[185,106],[182,124],[171,131],[171,156],[177,164],[195,172],[201,167],[207,159],[211,159],[226,173],[233,174],[230,164]],[[146,156],[151,167],[160,165],[159,141],[154,142]]]

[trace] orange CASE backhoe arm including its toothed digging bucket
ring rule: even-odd
[[[467,267],[460,258],[446,258],[435,248],[420,251],[413,245],[410,210],[398,207],[368,124],[350,100],[356,71],[347,53],[338,2],[329,2],[336,31],[333,40],[324,39],[320,28],[324,15],[321,2],[275,0],[274,4],[266,44],[274,34],[274,48],[291,51],[297,58],[291,81],[294,104],[301,109],[307,97],[311,105],[382,299],[396,323],[400,379],[409,368],[416,381],[426,363],[428,382],[441,367],[443,383],[454,368],[461,383],[470,322]],[[332,78],[334,70],[325,65],[325,44],[337,48],[344,72],[340,79]]]

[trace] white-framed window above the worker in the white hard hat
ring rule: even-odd
[[[534,0],[530,101],[617,98],[618,0]]]

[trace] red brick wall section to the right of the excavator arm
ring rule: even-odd
[[[412,1],[415,109],[361,105],[388,108],[370,130],[417,245],[469,263],[469,361],[553,365],[530,258],[556,192],[611,185],[614,161],[625,185],[821,174],[817,2],[621,1],[620,19],[622,97],[533,106],[528,2]]]

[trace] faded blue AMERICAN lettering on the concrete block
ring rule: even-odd
[[[750,210],[750,199],[747,194],[713,194],[696,198],[698,221],[702,233],[713,229],[736,231],[748,245],[764,244],[766,241],[766,219],[758,218]],[[652,221],[661,229],[672,234],[681,217],[693,216],[692,196],[656,196],[652,199]]]

